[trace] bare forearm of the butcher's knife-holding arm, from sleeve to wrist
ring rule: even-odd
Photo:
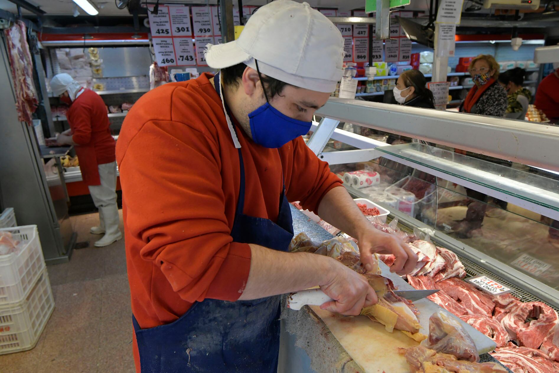
[[[308,289],[329,281],[333,259],[310,253],[286,253],[250,244],[250,273],[239,300]]]

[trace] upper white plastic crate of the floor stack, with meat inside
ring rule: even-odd
[[[23,244],[19,252],[0,256],[0,307],[25,299],[45,269],[36,225],[0,229],[6,231]]]

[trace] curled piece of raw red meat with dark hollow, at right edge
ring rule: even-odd
[[[535,318],[526,322],[528,318]],[[528,302],[510,311],[501,323],[509,339],[519,346],[539,348],[543,339],[557,324],[557,312],[543,302]]]

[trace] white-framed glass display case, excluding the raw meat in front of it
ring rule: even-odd
[[[549,143],[539,141],[543,125],[530,124],[530,134],[520,121],[451,113],[458,125],[473,122],[470,133],[457,130],[456,138],[438,131],[441,121],[448,124],[446,112],[419,109],[418,120],[407,107],[352,102],[349,111],[331,115],[341,106],[330,101],[318,112],[325,116],[314,124],[309,147],[342,178],[357,170],[380,174],[372,185],[345,183],[352,196],[385,207],[410,230],[429,232],[471,274],[489,274],[524,301],[559,308],[559,166],[552,149],[542,148]],[[390,121],[375,119],[386,111]],[[559,129],[547,131],[559,140]],[[510,139],[515,156],[498,154]]]

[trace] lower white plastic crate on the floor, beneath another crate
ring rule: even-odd
[[[53,291],[45,269],[25,300],[0,307],[0,355],[35,347],[53,310]]]

